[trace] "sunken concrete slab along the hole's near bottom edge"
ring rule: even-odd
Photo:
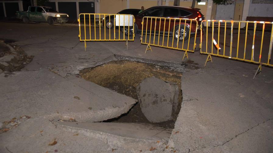
[[[171,135],[171,129],[141,123],[58,122],[60,127],[132,152],[150,151],[151,147],[163,151]]]

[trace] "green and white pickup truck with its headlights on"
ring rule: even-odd
[[[16,11],[16,18],[23,20],[24,23],[35,21],[54,25],[55,23],[66,24],[68,14],[59,13],[47,6],[29,6],[27,12]]]

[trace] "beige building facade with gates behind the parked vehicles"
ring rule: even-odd
[[[30,2],[37,5],[36,0],[0,0],[0,16],[12,17],[16,11],[26,11]],[[49,0],[45,5],[58,12],[67,13],[70,21],[75,21],[80,13],[112,13],[123,9],[145,9],[156,5],[173,5],[174,0]],[[190,7],[192,0],[181,0],[180,6]],[[225,4],[216,5],[212,0],[195,3],[206,20],[246,20],[255,17],[272,20],[273,0],[228,0]],[[254,19],[255,19],[254,18]]]

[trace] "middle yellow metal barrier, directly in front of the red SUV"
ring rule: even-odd
[[[194,19],[144,16],[141,43],[147,45],[145,53],[147,50],[152,51],[151,46],[186,51],[184,60],[185,57],[188,58],[187,52],[194,52],[196,47],[197,27],[198,22]],[[194,36],[194,40],[190,39],[191,35]]]

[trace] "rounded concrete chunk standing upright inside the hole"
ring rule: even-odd
[[[178,106],[179,89],[176,83],[152,77],[137,87],[137,96],[143,114],[150,122],[172,120]]]

